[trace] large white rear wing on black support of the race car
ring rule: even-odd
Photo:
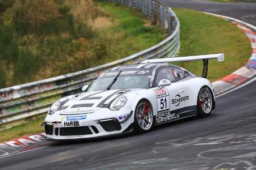
[[[145,59],[141,63],[166,63],[166,62],[186,62],[186,61],[195,61],[195,60],[203,60],[203,74],[202,77],[207,77],[208,72],[208,60],[209,59],[218,59],[218,62],[224,61],[224,53],[220,54],[208,54],[208,55],[200,55],[200,56],[187,56],[187,57],[172,57],[172,58],[157,58],[157,59]]]

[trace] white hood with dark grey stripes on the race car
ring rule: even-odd
[[[83,114],[93,113],[101,108],[108,107],[108,104],[116,97],[138,89],[91,91],[78,95],[67,96],[60,99],[60,114]]]

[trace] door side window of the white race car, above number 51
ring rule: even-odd
[[[171,67],[164,67],[159,71],[157,71],[154,85],[158,86],[158,83],[162,79],[167,79],[167,80],[170,80],[171,82],[175,80]]]

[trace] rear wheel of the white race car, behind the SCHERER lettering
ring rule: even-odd
[[[213,108],[213,96],[208,87],[202,87],[197,96],[197,116],[207,117]]]

